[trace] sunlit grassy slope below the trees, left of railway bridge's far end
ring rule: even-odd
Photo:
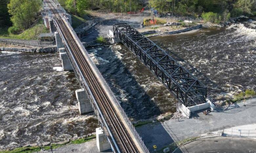
[[[32,27],[17,35],[9,33],[8,28],[0,28],[0,38],[36,40],[41,33],[49,33],[49,30],[45,27],[43,20],[39,20]]]

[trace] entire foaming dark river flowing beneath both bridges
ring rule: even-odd
[[[150,39],[207,84],[215,99],[256,89],[253,24]],[[125,46],[88,52],[130,118],[175,111],[177,100]],[[60,66],[58,54],[0,52],[0,148],[63,141],[98,126],[93,115],[79,115],[75,89],[80,85]]]

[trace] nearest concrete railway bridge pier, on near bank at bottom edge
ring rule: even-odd
[[[110,149],[110,144],[101,128],[96,128],[96,143],[97,143],[99,152]]]

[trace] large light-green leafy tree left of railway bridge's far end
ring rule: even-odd
[[[41,0],[10,0],[7,5],[14,27],[27,29],[39,15]]]

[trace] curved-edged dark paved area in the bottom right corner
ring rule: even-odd
[[[174,153],[256,153],[256,139],[244,137],[215,137],[193,141]]]

